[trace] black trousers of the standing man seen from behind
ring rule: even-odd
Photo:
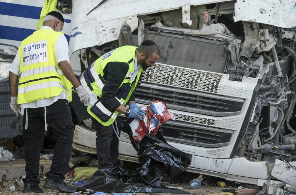
[[[39,158],[44,139],[44,107],[27,108],[28,128],[26,124],[26,109],[23,117],[23,136],[26,160],[26,179],[28,182],[39,184]],[[50,171],[46,177],[52,178],[56,182],[65,179],[67,167],[71,157],[74,125],[68,100],[59,99],[52,105],[46,106],[46,123],[51,126],[51,130],[57,139],[54,156]]]

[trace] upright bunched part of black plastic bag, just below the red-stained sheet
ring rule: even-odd
[[[128,123],[128,122],[127,122]],[[133,139],[132,131],[127,127],[122,130],[128,133],[133,147],[138,151],[141,167],[134,171],[134,177],[128,183],[139,183],[139,179],[149,186],[160,186],[161,182],[170,181],[173,176],[186,171],[192,155],[169,145],[160,131],[157,134],[146,134],[138,143]],[[134,181],[138,182],[134,182]]]

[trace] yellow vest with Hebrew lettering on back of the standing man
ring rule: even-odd
[[[50,98],[65,92],[72,100],[73,85],[57,65],[55,43],[62,32],[41,29],[22,41],[19,47],[20,74],[17,103]]]

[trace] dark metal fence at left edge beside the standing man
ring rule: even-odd
[[[9,104],[9,82],[0,82],[0,139],[21,134],[17,116],[10,109]]]

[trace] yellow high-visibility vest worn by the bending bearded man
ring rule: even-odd
[[[81,75],[78,80],[81,85],[89,92],[98,95],[96,103],[87,107],[88,113],[94,117],[99,123],[104,126],[111,125],[118,115],[117,111],[109,111],[102,103],[102,89],[105,84],[104,68],[110,62],[124,62],[129,65],[126,78],[122,81],[115,98],[118,102],[125,106],[128,103],[133,91],[140,82],[140,77],[143,72],[142,67],[139,68],[139,73],[134,77],[134,65],[136,56],[135,46],[123,46],[116,48],[108,53],[105,53],[97,59],[91,66],[89,66]],[[137,66],[137,63],[136,63]]]

